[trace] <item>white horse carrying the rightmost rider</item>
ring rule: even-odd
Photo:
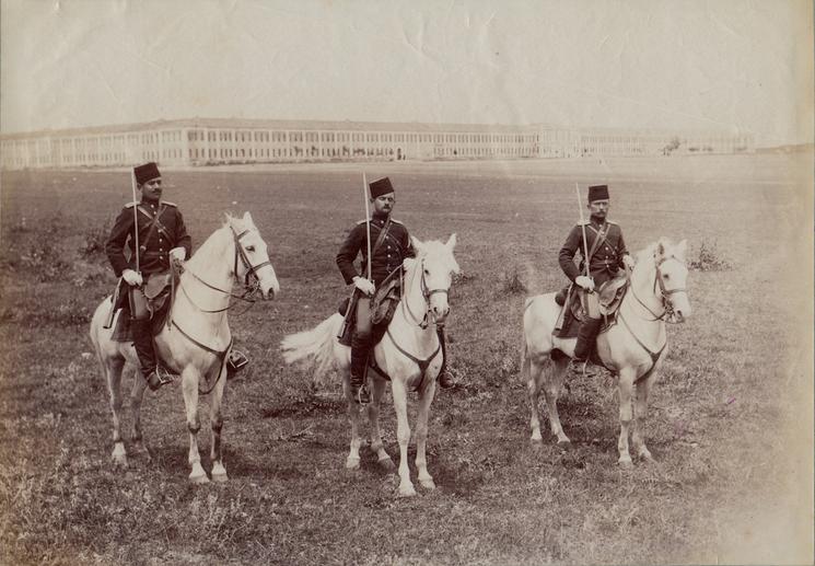
[[[642,428],[648,413],[648,395],[654,376],[667,354],[665,321],[683,322],[690,315],[685,290],[688,268],[685,265],[687,241],[673,245],[661,239],[638,254],[631,273],[630,288],[624,297],[617,323],[597,337],[597,354],[603,363],[618,377],[620,436],[618,463],[632,465],[628,451],[628,430],[633,419],[632,442],[636,454],[652,460],[645,448]],[[551,434],[558,444],[568,446],[558,415],[558,396],[568,357],[573,356],[577,338],[558,338],[552,334],[560,314],[555,293],[526,300],[521,377],[528,380],[532,403],[532,440],[540,441],[538,394],[544,390]],[[636,386],[636,404],[631,397]]]

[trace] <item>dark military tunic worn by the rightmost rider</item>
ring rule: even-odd
[[[599,287],[614,278],[617,270],[625,267],[622,257],[628,254],[620,227],[614,222],[605,221],[601,224],[594,220],[585,222],[585,238],[590,254],[601,230],[605,232],[605,241],[601,242],[589,263],[589,273],[594,279],[595,287]],[[574,265],[573,261],[578,251],[580,251],[581,256],[580,267]],[[583,226],[578,224],[569,232],[569,236],[558,255],[560,268],[571,281],[585,273],[583,253]]]

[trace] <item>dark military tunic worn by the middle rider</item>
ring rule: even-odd
[[[373,250],[386,220],[386,216],[374,216],[371,221],[371,250]],[[337,253],[337,266],[348,285],[353,281],[354,276],[361,275],[364,277],[368,269],[368,229],[365,224],[364,220],[360,220],[348,233],[342,247]],[[353,262],[360,252],[362,252],[362,263],[358,269]],[[403,259],[415,255],[416,252],[410,243],[407,228],[398,220],[391,220],[391,228],[385,235],[385,240],[371,258],[374,285],[379,287],[391,272],[401,266]]]

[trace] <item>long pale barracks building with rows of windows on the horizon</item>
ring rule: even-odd
[[[377,122],[194,118],[0,136],[3,169],[738,153],[753,136]]]

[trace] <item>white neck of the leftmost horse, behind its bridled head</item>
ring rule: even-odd
[[[182,275],[182,285],[200,308],[216,310],[229,304],[234,282],[233,246],[234,242],[229,227],[224,226],[216,230],[187,262],[186,270]],[[209,288],[199,279],[217,287],[220,291]],[[223,316],[225,316],[225,311]]]

